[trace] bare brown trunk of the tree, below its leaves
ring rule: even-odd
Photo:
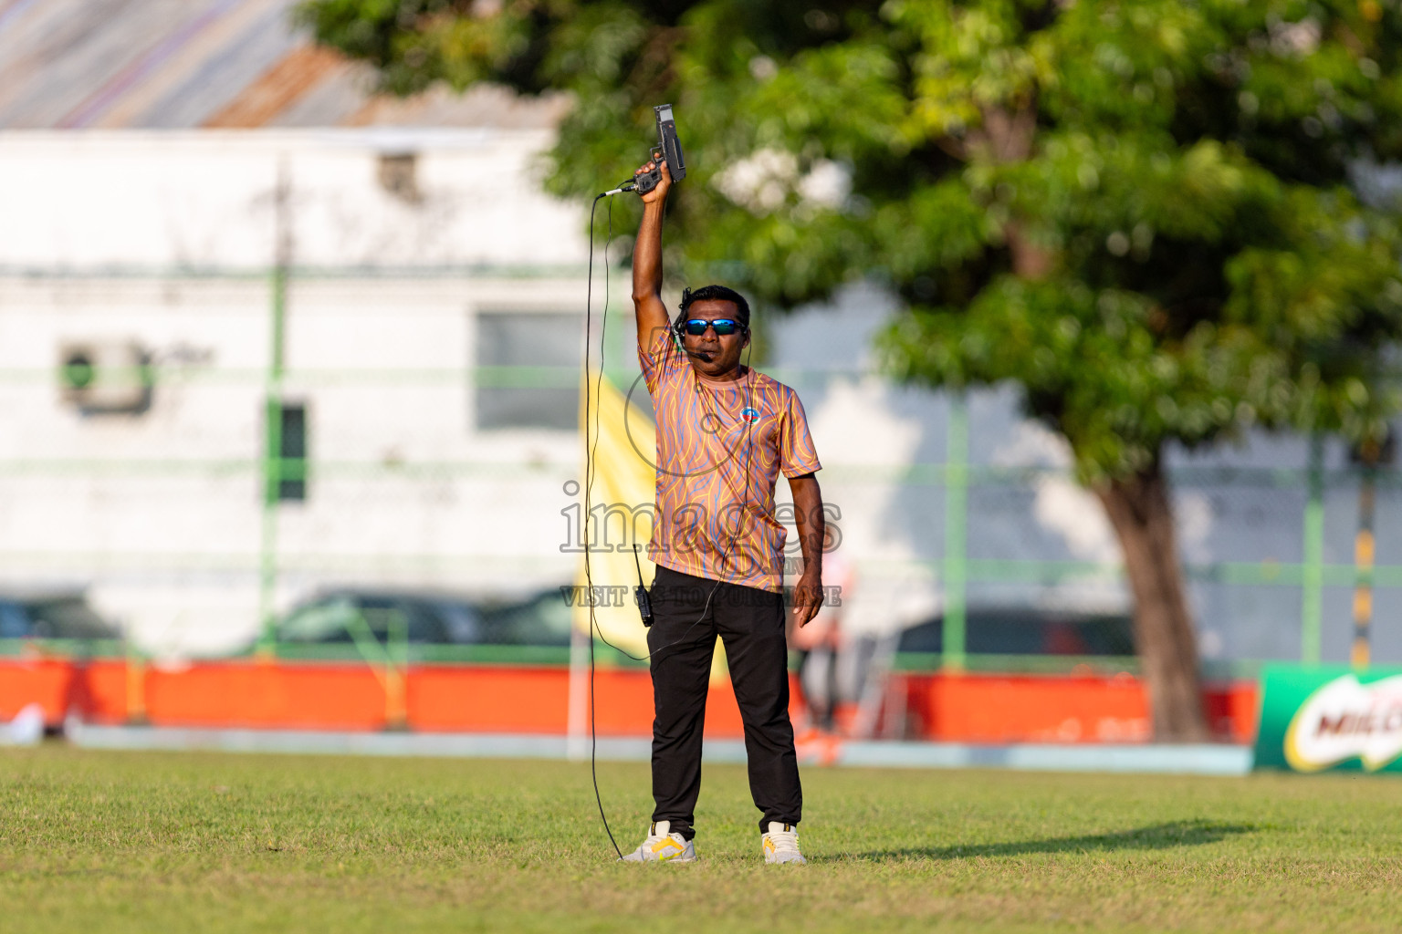
[[[1095,493],[1124,550],[1124,573],[1134,594],[1134,641],[1148,686],[1154,738],[1206,741],[1197,640],[1162,466],[1155,458],[1131,478],[1096,485]]]

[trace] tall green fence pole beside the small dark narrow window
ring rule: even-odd
[[[269,322],[268,374],[264,389],[262,529],[258,555],[258,618],[262,630],[258,655],[271,657],[278,641],[273,595],[278,587],[278,494],[282,487],[282,375],[287,311],[287,276],[292,232],[287,218],[287,164],[278,165],[275,192],[276,253],[272,269],[272,321]]]

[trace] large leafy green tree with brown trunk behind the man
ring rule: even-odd
[[[1399,0],[311,0],[384,87],[564,90],[550,186],[627,178],[677,105],[674,242],[789,307],[908,308],[904,379],[1011,382],[1070,442],[1136,599],[1154,728],[1206,735],[1164,452],[1375,437],[1398,234]],[[680,230],[677,227],[680,225]]]

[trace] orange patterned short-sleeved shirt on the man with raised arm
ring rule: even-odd
[[[648,556],[662,567],[767,591],[784,588],[787,529],[774,518],[780,471],[817,462],[798,393],[746,368],[697,375],[670,330],[638,347],[658,414],[658,500]]]

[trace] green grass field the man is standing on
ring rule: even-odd
[[[600,766],[620,846],[642,765]],[[587,766],[0,751],[0,930],[1402,928],[1402,781],[808,769],[765,867],[708,766],[695,865],[617,865]],[[642,927],[646,926],[646,927]]]

